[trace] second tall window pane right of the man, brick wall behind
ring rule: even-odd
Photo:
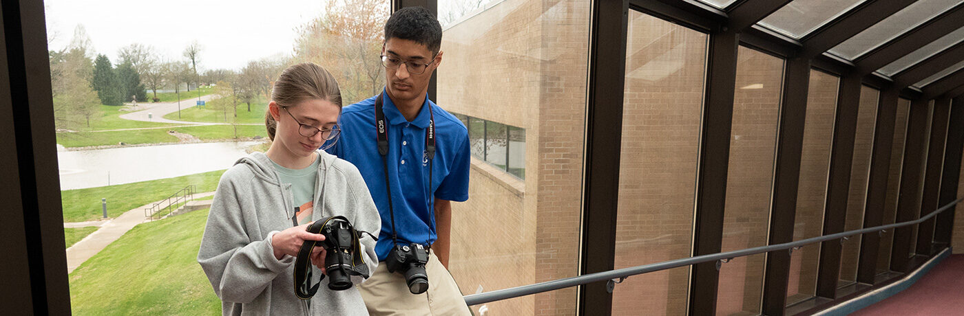
[[[629,12],[615,268],[687,257],[708,36]],[[629,278],[613,315],[682,315],[689,267]]]

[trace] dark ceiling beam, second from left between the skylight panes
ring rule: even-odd
[[[814,57],[856,36],[917,0],[871,0],[804,36],[803,57]]]

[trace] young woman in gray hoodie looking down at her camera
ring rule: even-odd
[[[310,300],[294,293],[298,251],[306,240],[324,239],[306,230],[311,222],[341,215],[356,230],[381,229],[359,170],[318,150],[339,132],[335,78],[314,63],[295,64],[281,73],[271,99],[265,115],[271,147],[239,159],[221,177],[198,262],[224,315],[367,315],[358,288],[330,290],[330,278]],[[375,240],[362,234],[360,241],[364,263],[375,271]],[[325,255],[315,247],[311,263],[323,267]],[[319,268],[314,276],[321,275]],[[362,278],[352,281],[357,285]]]

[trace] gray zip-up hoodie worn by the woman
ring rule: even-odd
[[[348,161],[317,151],[318,177],[312,220],[345,216],[357,230],[377,234],[381,217],[358,168]],[[291,184],[281,183],[271,160],[262,153],[238,159],[218,183],[198,262],[221,298],[224,315],[368,315],[358,288],[328,288],[325,278],[318,293],[302,301],[294,293],[295,257],[278,260],[271,237],[291,228],[294,215]],[[360,239],[368,271],[378,265],[375,240]],[[321,270],[313,267],[312,281]],[[362,278],[353,277],[357,284]]]

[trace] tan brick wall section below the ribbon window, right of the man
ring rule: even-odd
[[[531,284],[535,227],[526,219],[532,214],[523,207],[523,183],[491,164],[471,159],[470,202],[453,206],[449,270],[464,294],[479,287],[492,291]],[[532,304],[532,297],[524,297],[486,305],[494,315],[527,315]]]

